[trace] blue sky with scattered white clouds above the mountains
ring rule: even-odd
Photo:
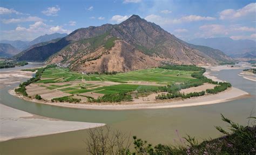
[[[1,0],[0,40],[31,41],[51,33],[118,24],[139,15],[176,37],[256,40],[256,0]]]

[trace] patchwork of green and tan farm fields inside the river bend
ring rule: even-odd
[[[160,68],[137,70],[114,75],[82,74],[64,68],[48,68],[41,79],[26,87],[29,96],[40,95],[44,99],[72,96],[86,102],[119,92],[154,90],[159,86],[196,80],[195,71],[167,70]]]

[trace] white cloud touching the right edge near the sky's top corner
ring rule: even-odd
[[[242,9],[234,10],[234,9],[226,9],[220,12],[220,19],[234,19],[234,18],[239,18],[242,16],[246,16],[249,14],[252,14],[255,16],[256,14],[256,3],[250,3],[246,5]]]

